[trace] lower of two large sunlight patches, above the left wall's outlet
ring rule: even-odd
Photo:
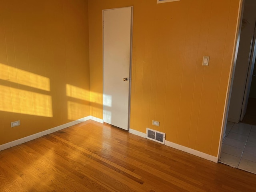
[[[52,97],[0,85],[0,110],[52,117]]]

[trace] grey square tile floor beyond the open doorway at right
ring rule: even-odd
[[[256,174],[256,126],[227,122],[219,162]]]

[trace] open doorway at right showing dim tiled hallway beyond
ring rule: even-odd
[[[256,99],[253,98],[256,92],[255,9],[255,1],[244,1],[240,43],[219,160],[254,174],[256,174],[256,123],[254,125]]]

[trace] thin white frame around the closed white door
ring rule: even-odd
[[[132,82],[132,31],[133,31],[133,6],[128,6],[131,8],[131,36],[130,36],[130,65],[129,65],[129,96],[128,96],[128,130],[130,129],[130,103],[131,103],[131,82]],[[128,8],[128,7],[120,7],[120,8]],[[102,68],[103,68],[103,96],[104,96],[104,24],[103,24],[103,20],[104,20],[104,14],[103,12],[106,10],[114,10],[114,9],[120,9],[120,8],[112,8],[112,9],[104,9],[102,10]],[[103,97],[102,97],[103,98]],[[102,110],[103,114],[104,114],[104,106],[103,106],[103,110]],[[103,119],[104,122],[104,119]]]

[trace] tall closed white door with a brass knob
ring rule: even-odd
[[[103,120],[129,127],[132,7],[103,10]]]

